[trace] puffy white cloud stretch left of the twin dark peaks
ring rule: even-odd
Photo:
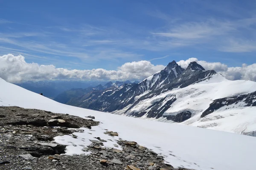
[[[165,67],[163,65],[152,65],[149,61],[139,61],[127,62],[117,70],[105,70],[102,68],[68,70],[55,68],[54,65],[27,63],[22,55],[14,56],[12,54],[0,56],[0,63],[0,77],[8,82],[54,79],[136,80],[144,79]]]

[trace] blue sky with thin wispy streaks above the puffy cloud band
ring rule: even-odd
[[[56,68],[115,70],[196,57],[256,62],[255,0],[0,0],[0,55]]]

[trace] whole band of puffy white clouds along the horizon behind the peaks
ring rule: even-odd
[[[186,61],[177,62],[182,68],[186,68],[190,62],[196,61],[206,70],[215,70],[223,74],[227,79],[248,79],[256,81],[256,63],[243,64],[241,67],[228,67],[221,62],[206,62],[197,58],[189,58]],[[17,83],[37,80],[140,80],[151,76],[165,68],[164,65],[153,65],[150,61],[126,62],[116,70],[102,68],[92,70],[68,70],[55,68],[54,65],[38,65],[27,63],[22,55],[7,54],[0,56],[0,77],[8,82]]]

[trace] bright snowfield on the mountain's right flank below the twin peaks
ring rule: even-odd
[[[256,107],[244,107],[243,102],[220,108],[203,118],[201,118],[201,115],[215,99],[248,94],[254,91],[256,91],[256,82],[246,80],[230,81],[221,74],[215,74],[204,81],[194,83],[185,88],[174,89],[141,100],[127,112],[125,112],[127,108],[124,108],[113,113],[129,115],[133,112],[148,111],[148,108],[161,99],[165,99],[162,102],[162,107],[169,100],[176,98],[175,102],[172,103],[171,107],[165,111],[163,115],[176,115],[183,111],[190,111],[192,117],[180,124],[232,133],[248,133],[256,130]],[[148,93],[148,91],[146,91],[145,94],[146,93]],[[145,94],[143,93],[141,96]],[[163,117],[159,119],[147,118],[147,114],[141,118],[173,123],[172,120],[167,120]]]

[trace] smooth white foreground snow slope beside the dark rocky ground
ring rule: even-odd
[[[98,127],[84,128],[77,133],[77,139],[58,136],[59,143],[70,145],[67,154],[81,154],[81,148],[75,144],[90,144],[88,139],[105,136],[104,129],[117,131],[124,140],[136,141],[165,157],[174,167],[186,167],[195,170],[254,170],[256,157],[256,138],[235,133],[226,133],[185,125],[163,123],[119,116],[99,111],[91,111],[64,105],[39,94],[27,91],[0,79],[0,105],[35,108],[55,113],[69,113],[75,116],[95,116],[102,122]],[[72,143],[69,143],[72,142]],[[106,147],[114,142],[108,142]],[[89,154],[89,153],[85,153]],[[172,154],[172,155],[170,155]]]

